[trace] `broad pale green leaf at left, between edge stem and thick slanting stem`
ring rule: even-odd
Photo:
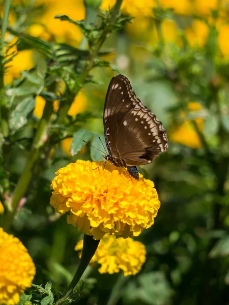
[[[24,126],[32,116],[35,107],[35,97],[25,98],[10,114],[10,128],[14,133]]]

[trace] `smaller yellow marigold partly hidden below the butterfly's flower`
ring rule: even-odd
[[[81,251],[83,240],[77,242],[76,251]],[[94,266],[98,262],[101,267],[100,273],[117,273],[123,270],[124,276],[136,275],[141,266],[146,261],[146,248],[143,243],[134,241],[132,238],[116,238],[113,235],[105,234],[100,240],[95,255],[91,259],[90,265]]]

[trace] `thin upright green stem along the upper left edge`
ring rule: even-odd
[[[4,38],[7,30],[8,17],[10,12],[10,0],[6,0],[4,15],[3,15],[3,24],[1,29],[1,38],[0,38],[0,112],[1,112],[1,130],[3,137],[7,137],[9,134],[9,124],[8,124],[8,109],[7,101],[5,96],[5,87],[4,87]]]

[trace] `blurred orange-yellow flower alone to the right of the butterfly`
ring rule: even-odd
[[[188,112],[182,112],[181,118],[185,119],[187,114],[194,114],[196,111],[203,110],[201,104],[196,102],[190,102],[187,105]],[[199,129],[203,132],[204,129],[204,119],[195,118],[194,121]],[[199,148],[202,146],[201,140],[192,122],[189,119],[185,119],[183,123],[171,128],[169,132],[169,140],[171,142],[180,143],[191,148]]]

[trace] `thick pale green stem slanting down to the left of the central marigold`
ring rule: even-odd
[[[53,106],[50,101],[45,103],[42,118],[39,122],[37,132],[35,134],[30,153],[28,155],[25,168],[17,182],[16,188],[11,197],[11,201],[8,203],[8,211],[3,220],[3,228],[5,231],[9,230],[15,213],[17,211],[18,204],[21,198],[24,196],[28,185],[30,184],[31,177],[33,175],[34,167],[41,155],[41,148],[46,141],[47,128],[50,117],[52,115]]]

